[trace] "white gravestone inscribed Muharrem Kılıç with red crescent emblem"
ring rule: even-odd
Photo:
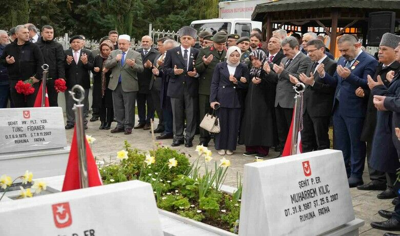
[[[353,221],[341,151],[245,165],[239,235],[318,235]]]

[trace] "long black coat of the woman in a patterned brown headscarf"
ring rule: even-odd
[[[97,55],[94,58],[93,62],[93,101],[92,108],[101,108],[102,107],[102,71],[103,71],[103,63],[106,61],[105,58]],[[100,68],[99,72],[94,71],[94,67]],[[110,82],[110,74],[111,69],[106,73],[106,91],[104,96],[106,97],[106,107],[112,107],[112,90],[108,88],[108,83]]]

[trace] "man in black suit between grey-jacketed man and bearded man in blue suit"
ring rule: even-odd
[[[302,147],[303,152],[310,152],[330,148],[328,131],[335,87],[321,80],[319,72],[333,75],[336,62],[324,53],[325,45],[320,40],[308,41],[306,48],[313,63],[308,66],[305,74],[299,75],[299,80],[289,76],[292,83],[301,81],[306,85],[303,97]]]

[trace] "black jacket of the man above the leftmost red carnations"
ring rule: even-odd
[[[7,56],[13,56],[15,63],[8,64]],[[43,53],[39,46],[29,41],[22,46],[17,45],[17,40],[8,44],[0,57],[0,63],[7,67],[8,78],[11,80],[28,80],[32,76],[41,80],[43,75]]]

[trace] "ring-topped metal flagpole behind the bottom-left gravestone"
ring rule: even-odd
[[[72,99],[77,102],[72,108],[75,111],[75,126],[76,126],[76,143],[78,147],[78,164],[79,164],[79,185],[81,188],[89,187],[88,165],[86,159],[85,145],[85,129],[83,123],[84,104],[81,102],[85,99],[85,90],[81,85],[72,87],[69,93]],[[79,96],[79,97],[78,97]]]

